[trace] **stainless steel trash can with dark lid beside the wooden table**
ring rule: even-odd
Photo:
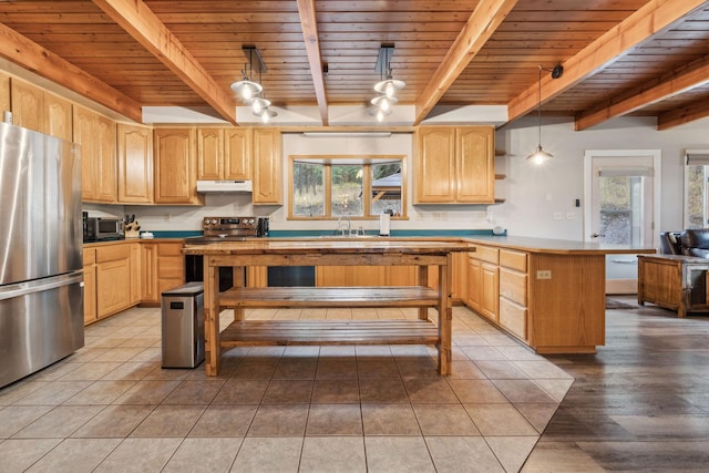
[[[204,361],[204,282],[162,294],[163,368],[195,368]]]

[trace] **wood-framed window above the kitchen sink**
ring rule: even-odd
[[[289,218],[405,216],[404,156],[290,156]]]

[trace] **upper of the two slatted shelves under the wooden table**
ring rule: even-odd
[[[220,307],[436,307],[438,290],[424,286],[233,288]]]

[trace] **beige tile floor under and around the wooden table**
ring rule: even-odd
[[[88,327],[73,356],[0,389],[0,471],[518,471],[573,378],[462,307],[453,341],[450,378],[421,346],[234,349],[208,378],[203,366],[162,369],[160,309],[131,309]]]

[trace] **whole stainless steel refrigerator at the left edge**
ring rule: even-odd
[[[0,123],[0,387],[84,345],[75,145]]]

